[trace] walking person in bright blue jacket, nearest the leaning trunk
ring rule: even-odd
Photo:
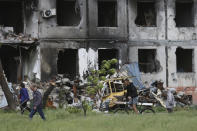
[[[21,89],[20,89],[20,108],[21,108],[21,114],[24,113],[25,109],[31,112],[31,109],[27,107],[27,102],[29,101],[29,94],[27,89],[25,88],[25,84],[21,83],[20,84]]]

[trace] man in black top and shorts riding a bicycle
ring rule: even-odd
[[[137,89],[135,88],[133,83],[129,81],[129,79],[125,79],[123,83],[125,88],[127,89],[126,99],[128,100],[128,104],[132,105],[133,110],[136,114],[138,114],[138,110],[136,108],[138,102]]]

